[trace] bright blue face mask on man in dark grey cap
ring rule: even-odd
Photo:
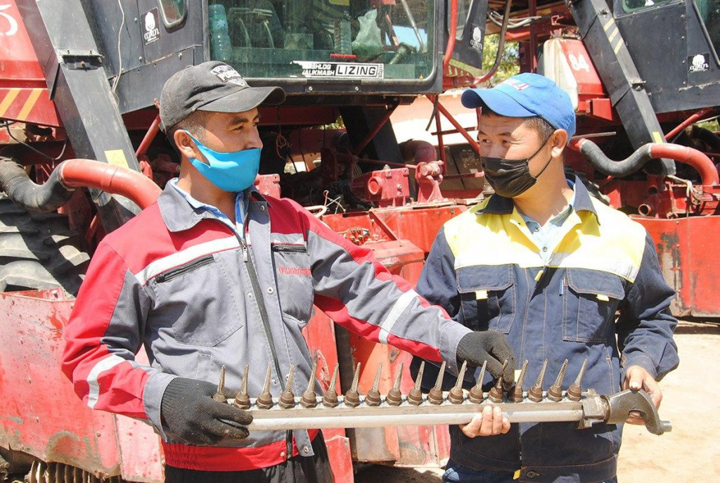
[[[204,155],[210,164],[205,164],[196,158],[189,158],[190,163],[212,184],[232,193],[253,186],[260,168],[260,148],[243,149],[232,153],[218,153],[200,143],[189,132],[187,132],[187,135],[194,140],[200,153]]]

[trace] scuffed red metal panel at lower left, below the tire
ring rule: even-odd
[[[114,417],[86,407],[60,372],[72,303],[57,289],[0,294],[0,446],[117,475]]]

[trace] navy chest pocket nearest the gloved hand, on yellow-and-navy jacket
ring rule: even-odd
[[[464,325],[472,330],[510,332],[518,304],[513,266],[458,268],[457,283]]]

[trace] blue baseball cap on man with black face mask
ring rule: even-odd
[[[567,142],[575,134],[575,109],[567,92],[545,76],[521,73],[492,89],[467,89],[462,105],[469,109],[485,104],[504,117],[541,117],[555,129],[567,131]]]

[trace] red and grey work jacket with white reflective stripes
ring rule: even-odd
[[[368,340],[455,371],[457,344],[470,332],[298,204],[257,191],[245,203],[239,233],[167,186],[99,244],[66,328],[63,370],[77,394],[91,408],[153,425],[170,466],[239,471],[312,456],[316,432],[307,430],[189,446],[163,427],[160,407],[174,377],[217,382],[223,364],[233,389],[250,365],[253,395],[271,364],[274,397],[295,364],[301,394],[311,371],[301,330],[313,304]],[[143,343],[149,366],[135,361]]]

